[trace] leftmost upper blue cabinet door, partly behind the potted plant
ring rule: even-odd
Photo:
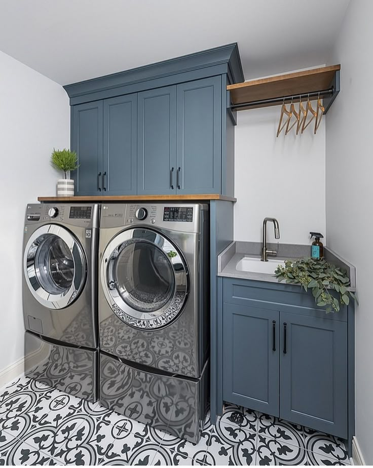
[[[76,195],[102,195],[102,108],[102,101],[72,108],[71,148],[79,164],[71,174]]]

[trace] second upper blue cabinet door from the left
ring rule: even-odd
[[[103,101],[104,195],[135,195],[137,174],[137,95]]]

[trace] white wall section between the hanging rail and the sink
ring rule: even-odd
[[[266,216],[277,218],[281,243],[308,244],[310,231],[325,236],[325,121],[316,135],[310,124],[303,135],[294,127],[277,138],[279,118],[280,106],[237,112],[235,240],[261,242]]]

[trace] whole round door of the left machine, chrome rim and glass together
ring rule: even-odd
[[[83,249],[62,226],[42,226],[27,242],[24,274],[31,293],[41,304],[63,308],[83,289],[86,279]]]

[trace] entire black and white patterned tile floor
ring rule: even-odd
[[[165,428],[167,430],[167,428]],[[226,404],[198,444],[19,377],[0,389],[1,465],[347,465],[344,442]]]

